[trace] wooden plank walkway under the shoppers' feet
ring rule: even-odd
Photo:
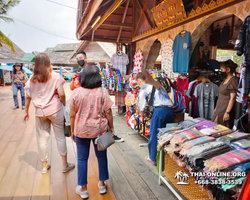
[[[68,84],[65,85],[70,96]],[[19,97],[20,99],[20,97]],[[24,111],[13,110],[11,87],[0,87],[0,200],[77,200],[77,169],[63,174],[54,135],[51,139],[51,170],[42,175],[34,131],[34,108],[28,123],[23,122]],[[107,194],[98,192],[98,166],[93,147],[89,158],[88,190],[93,200],[174,200],[172,193],[158,185],[156,167],[147,163],[147,147],[139,147],[146,140],[131,131],[125,118],[115,116],[116,134],[124,143],[113,145],[108,151],[109,174]],[[68,160],[76,163],[76,147],[67,139]]]

